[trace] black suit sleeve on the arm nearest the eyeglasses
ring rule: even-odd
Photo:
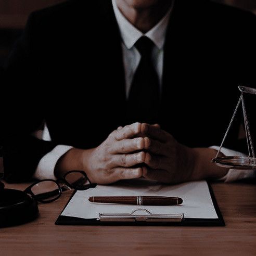
[[[4,173],[7,182],[28,181],[40,160],[56,144],[31,134],[44,122],[42,95],[39,94],[36,22],[29,17],[26,28],[4,67],[4,97],[0,139],[4,145]]]

